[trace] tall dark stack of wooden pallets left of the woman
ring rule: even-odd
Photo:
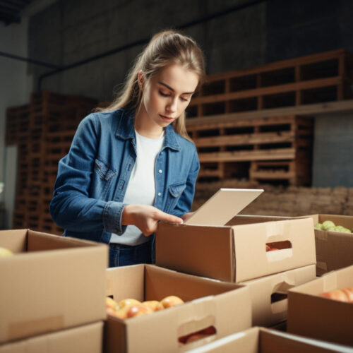
[[[6,143],[18,145],[13,227],[61,234],[49,215],[58,162],[68,152],[80,120],[97,102],[43,91],[30,104],[7,111]]]

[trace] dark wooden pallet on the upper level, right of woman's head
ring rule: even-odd
[[[191,100],[188,116],[349,99],[352,57],[339,49],[208,76]]]

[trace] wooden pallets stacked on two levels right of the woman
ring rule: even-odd
[[[353,56],[340,49],[209,76],[186,126],[200,152],[200,177],[310,184],[312,119],[239,112],[344,100],[352,97],[352,73]]]

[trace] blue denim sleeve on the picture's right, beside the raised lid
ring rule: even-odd
[[[198,153],[195,148],[193,153],[193,159],[191,162],[191,168],[189,171],[188,178],[186,180],[186,187],[181,193],[179,201],[175,206],[174,210],[171,212],[172,215],[181,217],[185,213],[190,212],[191,206],[193,204],[193,196],[195,196],[195,184],[198,177],[198,172],[200,171],[200,162],[198,161]]]

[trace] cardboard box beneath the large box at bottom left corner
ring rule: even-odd
[[[0,345],[0,353],[102,353],[103,322]]]

